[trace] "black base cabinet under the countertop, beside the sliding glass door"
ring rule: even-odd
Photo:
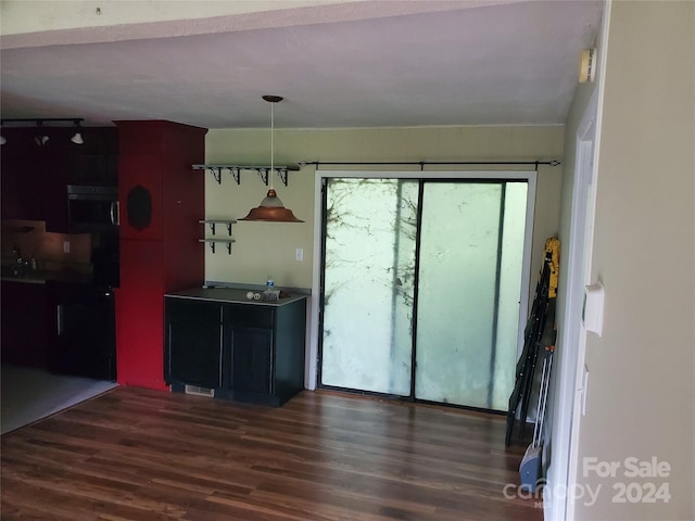
[[[285,305],[167,296],[165,380],[279,406],[304,387],[305,300]]]

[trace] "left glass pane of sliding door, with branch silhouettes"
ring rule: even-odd
[[[407,396],[418,181],[326,190],[321,384]]]

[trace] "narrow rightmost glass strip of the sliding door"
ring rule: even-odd
[[[497,339],[494,355],[491,408],[507,410],[514,389],[519,350],[519,297],[523,265],[523,234],[528,183],[507,182],[504,200],[504,231],[500,269]]]

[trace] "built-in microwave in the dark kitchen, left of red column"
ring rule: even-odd
[[[105,231],[118,226],[118,188],[67,185],[67,223],[74,231]]]

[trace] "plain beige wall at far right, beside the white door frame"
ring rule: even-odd
[[[695,518],[694,7],[611,7],[592,255],[605,315],[587,336],[577,472],[603,490],[576,519]],[[585,475],[592,457],[618,461],[616,476]],[[667,461],[670,475],[626,476],[629,457]],[[670,501],[614,501],[616,483],[647,481],[668,483]]]

